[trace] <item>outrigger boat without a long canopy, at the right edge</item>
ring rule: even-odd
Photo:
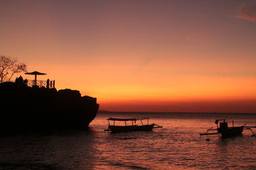
[[[219,122],[222,121],[222,122]],[[200,135],[209,135],[209,134],[221,134],[222,138],[227,138],[230,136],[237,136],[243,133],[244,129],[251,130],[252,136],[256,134],[252,131],[252,128],[256,128],[256,126],[246,126],[246,124],[234,127],[234,122],[232,121],[232,127],[228,127],[228,123],[225,122],[225,119],[215,120],[215,124],[217,125],[217,129],[209,128],[205,133],[201,133]],[[214,131],[214,132],[209,132]]]

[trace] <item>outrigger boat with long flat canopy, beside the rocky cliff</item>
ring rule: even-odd
[[[159,128],[157,124],[148,124],[149,118],[108,118],[108,129],[105,131],[111,132],[129,132],[129,131],[152,131],[153,128]],[[146,120],[147,123],[143,124],[143,120]],[[120,121],[124,122],[125,125],[116,125],[115,122]],[[136,121],[139,121],[141,125],[137,125]],[[127,124],[127,122],[129,122]]]

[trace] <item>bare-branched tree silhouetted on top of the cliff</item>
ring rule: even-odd
[[[10,81],[12,76],[17,73],[26,72],[27,66],[17,59],[0,55],[0,83]]]

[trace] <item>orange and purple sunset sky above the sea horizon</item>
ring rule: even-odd
[[[256,113],[255,46],[254,0],[0,0],[0,55],[100,110]]]

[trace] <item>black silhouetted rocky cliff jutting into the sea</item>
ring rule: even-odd
[[[98,109],[96,98],[77,90],[0,83],[0,132],[87,129]]]

